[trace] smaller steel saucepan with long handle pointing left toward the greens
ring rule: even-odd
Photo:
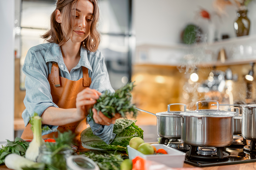
[[[139,111],[155,115],[157,117],[157,135],[161,138],[180,139],[181,138],[181,111],[170,111],[171,105],[184,105],[184,112],[186,112],[186,105],[181,103],[168,104],[167,112],[160,112],[153,114],[137,108]]]

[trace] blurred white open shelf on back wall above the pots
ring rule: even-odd
[[[227,57],[224,63],[217,61],[221,49],[225,50]],[[134,59],[134,65],[189,66],[191,64],[209,67],[249,64],[256,62],[256,35],[234,37],[211,44],[137,43]]]

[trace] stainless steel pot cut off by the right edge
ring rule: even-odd
[[[247,140],[256,140],[256,106],[242,106],[242,136]]]

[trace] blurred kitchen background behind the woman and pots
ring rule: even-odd
[[[99,0],[99,49],[114,89],[135,81],[133,102],[152,113],[170,103],[256,102],[256,0]],[[55,0],[0,0],[0,143],[23,132],[25,75],[32,46],[47,43]],[[171,107],[183,110],[181,105]],[[214,109],[207,104],[204,108]],[[221,109],[228,109],[221,107]],[[156,116],[141,113],[145,141]]]

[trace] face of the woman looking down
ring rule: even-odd
[[[79,0],[75,10],[75,24],[70,40],[73,43],[81,43],[88,37],[93,20],[94,6],[88,0]]]

